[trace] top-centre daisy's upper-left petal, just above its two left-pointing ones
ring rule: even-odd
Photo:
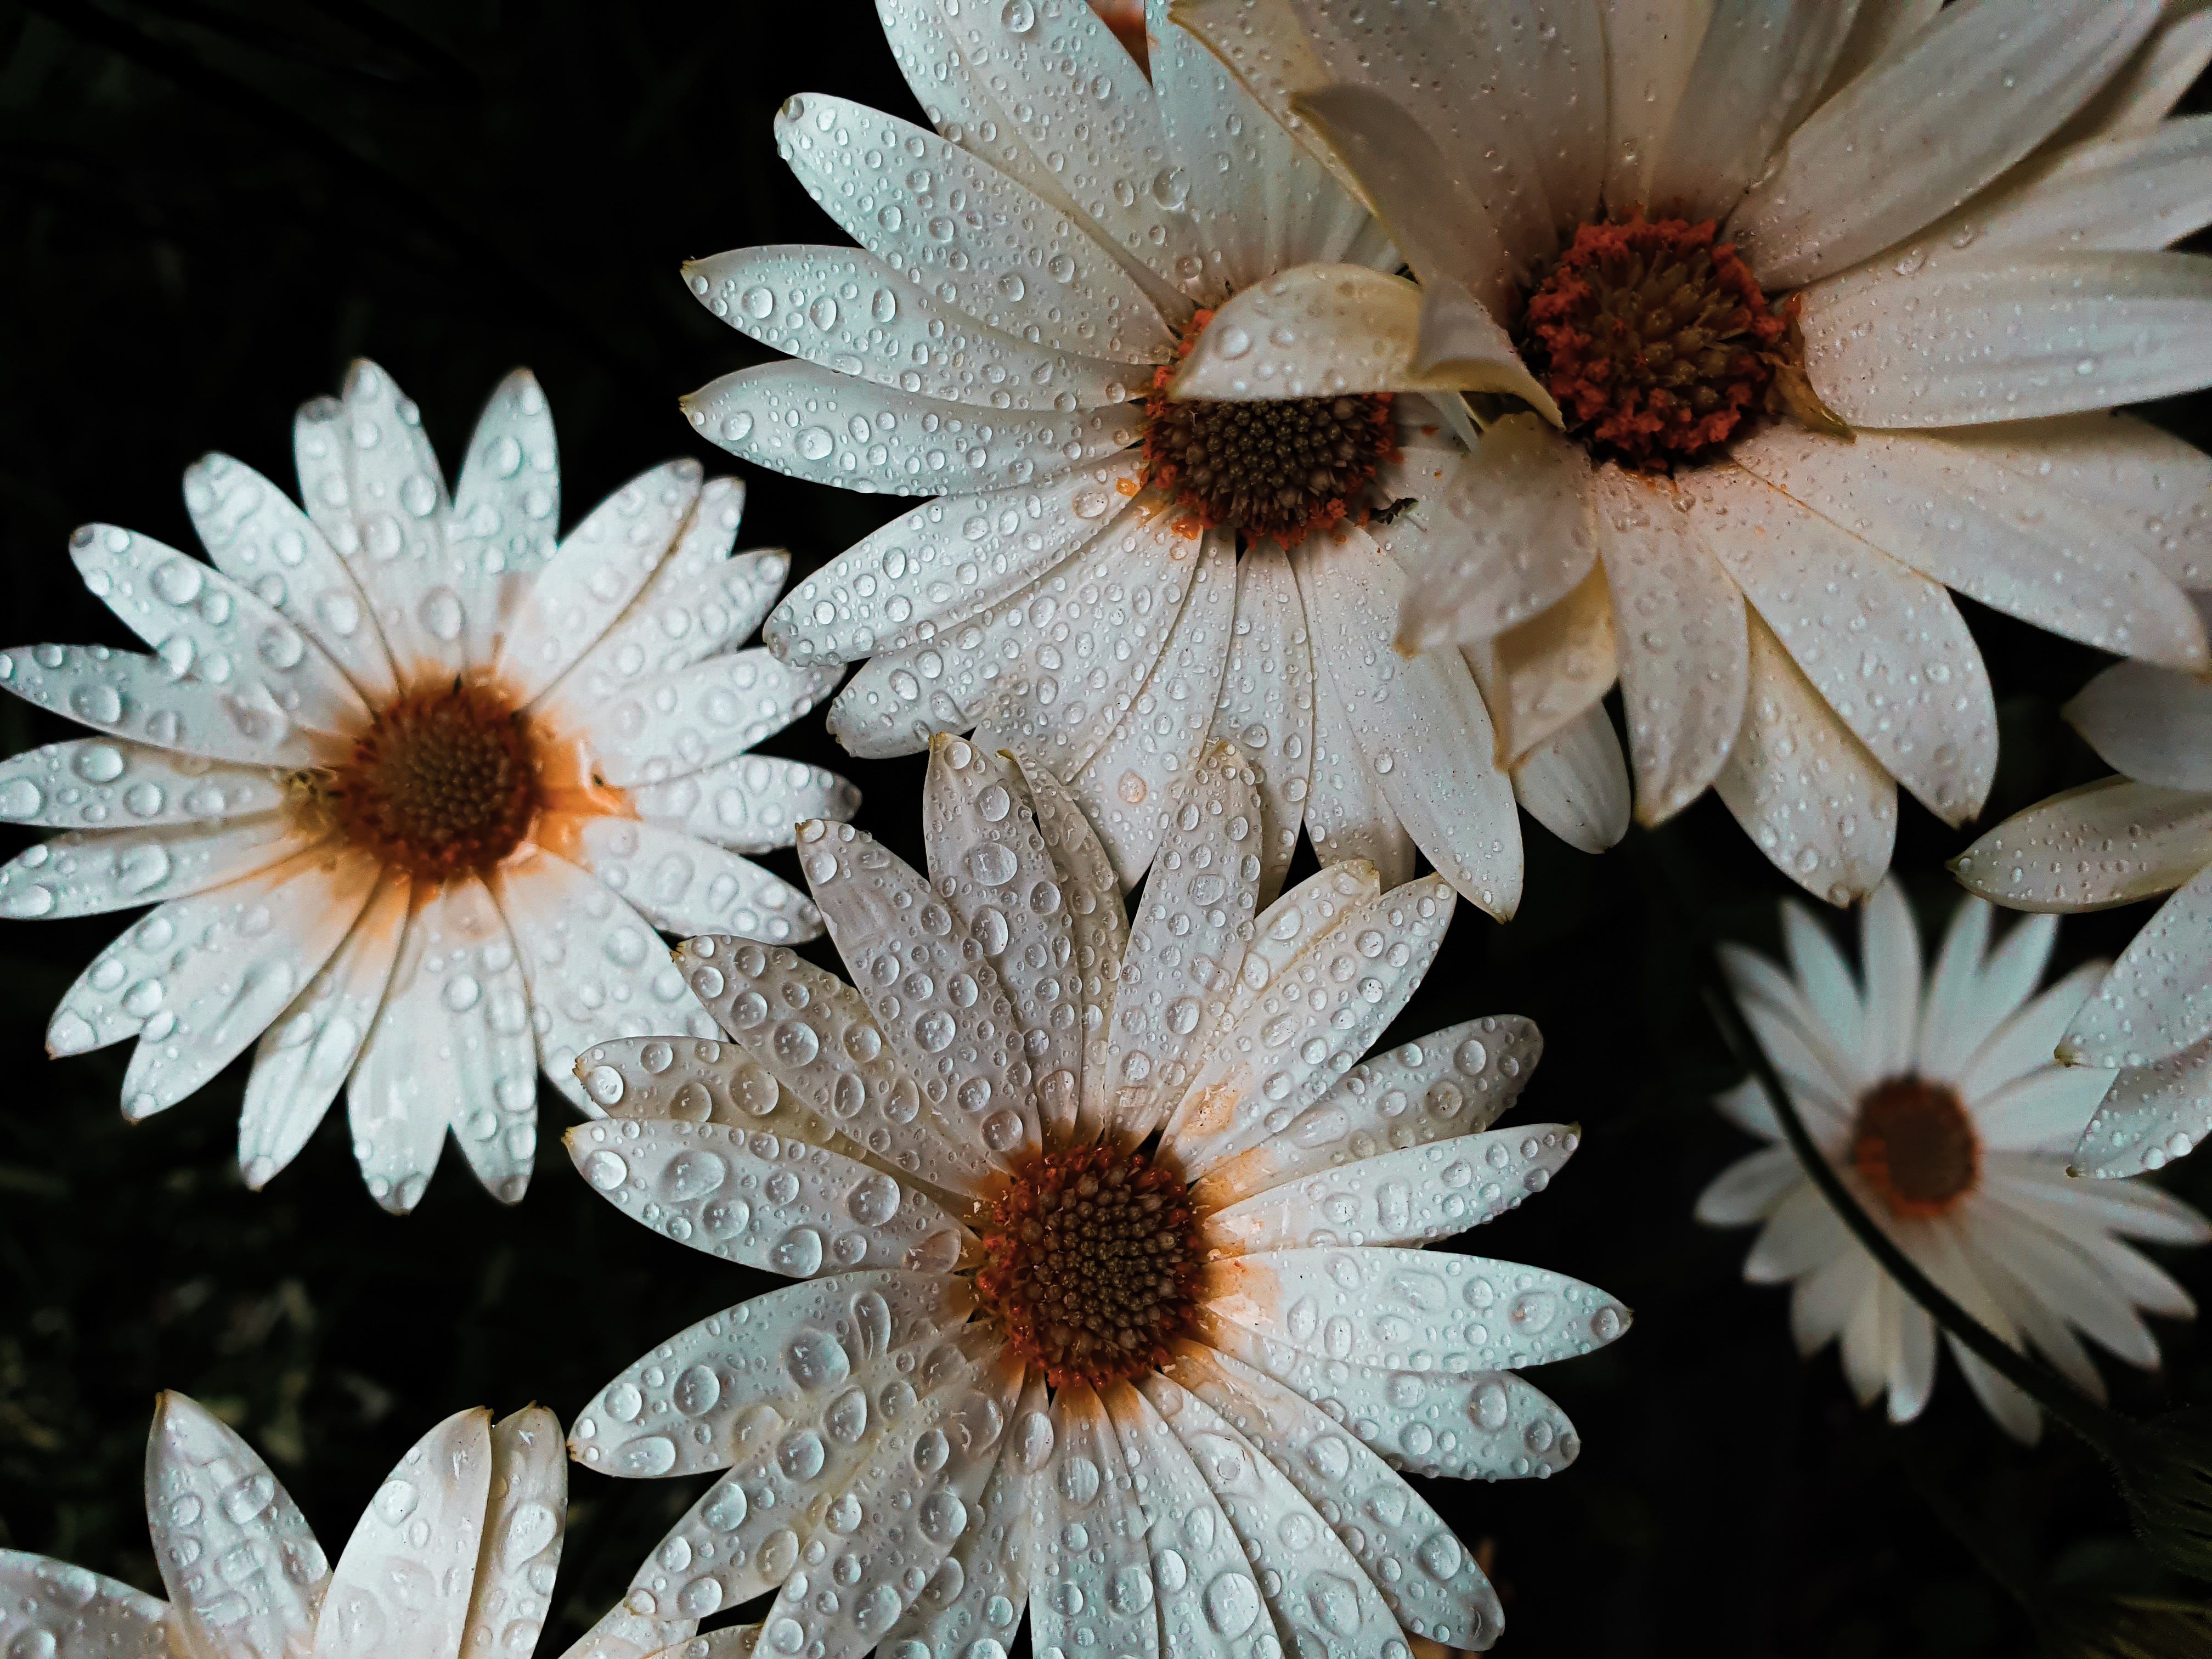
[[[785,100],[776,150],[823,212],[978,323],[1062,352],[1164,363],[1175,334],[1075,219],[989,161],[843,97]],[[869,166],[898,155],[898,166]],[[1144,186],[1150,195],[1150,177]],[[947,215],[962,199],[969,210]]]

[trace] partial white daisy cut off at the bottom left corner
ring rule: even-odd
[[[164,1394],[146,1528],[168,1599],[0,1551],[0,1652],[60,1659],[529,1659],[568,1522],[560,1420],[458,1411],[398,1460],[336,1566],[268,1464]],[[695,1621],[615,1608],[568,1659],[637,1659]]]

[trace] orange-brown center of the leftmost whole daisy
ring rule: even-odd
[[[460,681],[385,706],[325,792],[356,847],[431,880],[491,869],[542,801],[529,721]]]

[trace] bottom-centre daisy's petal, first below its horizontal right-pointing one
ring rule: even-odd
[[[1208,1347],[1287,1383],[1352,1429],[1391,1469],[1447,1480],[1522,1480],[1575,1462],[1582,1440],[1540,1389],[1513,1371],[1387,1371],[1336,1365],[1263,1338],[1199,1307],[1192,1332]],[[1422,1429],[1460,1427],[1455,1444]],[[1420,1427],[1416,1427],[1420,1425]],[[1391,1433],[1394,1440],[1383,1436]]]

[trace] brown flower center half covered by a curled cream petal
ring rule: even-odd
[[[1190,319],[1179,356],[1212,316]],[[1175,367],[1161,365],[1144,403],[1144,482],[1175,495],[1206,529],[1296,546],[1360,504],[1376,469],[1398,453],[1389,392],[1177,403],[1172,378]]]

